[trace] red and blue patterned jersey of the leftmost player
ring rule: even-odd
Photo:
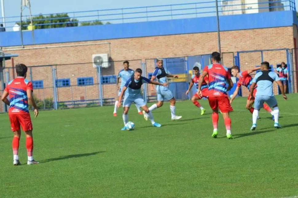
[[[33,86],[24,77],[17,77],[7,84],[4,91],[9,93],[8,114],[29,114],[28,89],[33,91]]]

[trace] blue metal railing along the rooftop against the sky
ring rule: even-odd
[[[245,0],[223,0],[218,3],[218,12],[219,15],[251,14],[281,10],[296,11],[295,7],[294,0],[268,0],[268,2],[247,4],[245,4]],[[59,14],[67,15],[59,17]],[[92,22],[96,25],[211,17],[216,16],[216,3],[214,0],[211,0],[173,5],[65,12],[58,13],[58,16],[56,14],[56,17],[54,17],[55,14],[42,15],[44,17],[42,19],[37,19],[40,14],[32,16],[35,29],[91,25],[89,23]],[[6,31],[11,31],[16,23],[20,24],[20,16],[6,17],[5,21]],[[27,26],[30,24],[29,16],[24,16],[22,21],[22,29],[27,29]]]

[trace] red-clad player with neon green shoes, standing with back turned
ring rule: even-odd
[[[231,118],[229,118],[229,112],[233,111],[233,108],[230,105],[227,91],[233,87],[233,81],[231,80],[231,75],[228,71],[228,68],[221,65],[220,53],[213,52],[211,54],[212,64],[204,68],[202,75],[200,76],[199,85],[198,85],[198,95],[199,96],[208,96],[208,101],[212,113],[212,123],[213,123],[213,133],[212,137],[216,138],[218,135],[217,126],[218,126],[218,109],[222,112],[222,116],[225,121],[226,136],[228,139],[233,139],[231,135]],[[208,92],[202,93],[202,84],[204,77],[208,75],[209,87]],[[228,83],[228,87],[226,87]]]

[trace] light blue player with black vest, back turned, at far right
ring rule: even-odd
[[[280,78],[276,73],[269,71],[269,62],[261,63],[261,72],[258,72],[253,78],[253,84],[250,89],[250,100],[255,100],[254,110],[253,110],[253,125],[250,130],[256,130],[257,128],[257,117],[259,111],[263,108],[264,102],[266,102],[271,108],[273,108],[274,116],[274,128],[281,128],[278,123],[279,118],[279,109],[277,106],[277,101],[273,93],[273,82],[276,81],[277,85],[280,87],[281,93],[285,100],[287,96],[284,94],[283,85],[280,81]],[[253,91],[255,86],[258,86],[256,97],[253,96]]]

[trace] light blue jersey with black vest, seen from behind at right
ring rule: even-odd
[[[273,82],[279,81],[280,78],[274,72],[261,71],[253,78],[253,82],[257,83],[256,96],[274,96]]]

